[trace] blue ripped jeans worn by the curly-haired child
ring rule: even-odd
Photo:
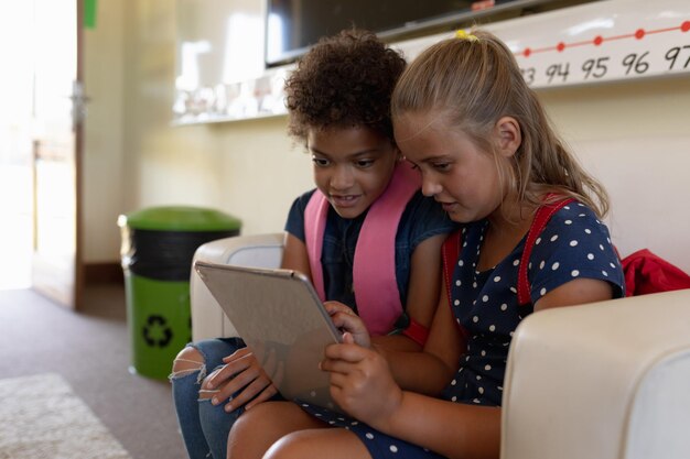
[[[239,338],[218,338],[192,342],[191,346],[204,357],[204,364],[194,371],[181,371],[170,375],[172,394],[190,459],[225,459],[230,427],[244,412],[224,411],[224,404],[212,405],[211,398],[200,398],[201,384],[214,369],[223,365],[223,358],[231,354],[245,343]]]

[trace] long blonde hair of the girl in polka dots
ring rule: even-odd
[[[513,53],[492,33],[474,31],[436,43],[403,72],[392,95],[393,121],[406,112],[431,111],[494,154],[489,139],[496,122],[517,120],[522,142],[511,166],[499,170],[516,201],[538,206],[545,194],[557,193],[579,199],[600,218],[608,211],[606,190],[559,139]]]

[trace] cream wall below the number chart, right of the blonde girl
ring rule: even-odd
[[[690,272],[690,78],[540,94],[583,165],[606,186],[622,255],[648,248]]]

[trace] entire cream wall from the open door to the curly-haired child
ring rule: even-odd
[[[252,2],[259,14],[259,0],[237,3]],[[149,206],[219,209],[241,218],[245,233],[282,230],[292,198],[311,186],[287,118],[171,127],[174,2],[97,4],[84,46],[85,261],[119,260],[117,217]]]

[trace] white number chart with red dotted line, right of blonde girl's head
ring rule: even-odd
[[[533,88],[690,74],[690,1],[611,0],[489,26]]]

